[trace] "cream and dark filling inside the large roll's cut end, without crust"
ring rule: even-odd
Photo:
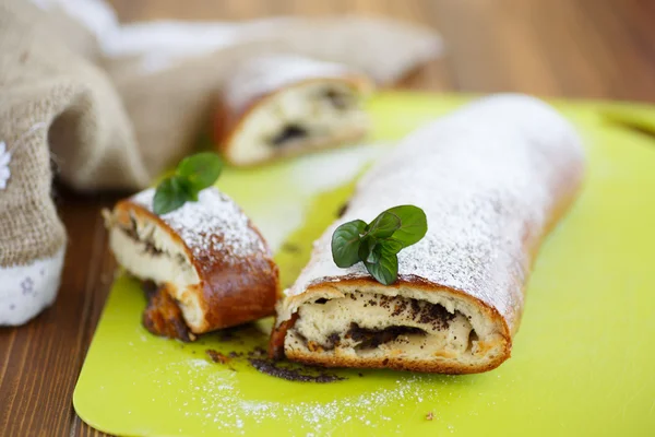
[[[467,353],[476,340],[471,321],[457,310],[450,312],[427,300],[356,291],[301,306],[286,341],[290,347],[310,352],[340,350],[368,356],[382,347],[403,356],[451,356]]]

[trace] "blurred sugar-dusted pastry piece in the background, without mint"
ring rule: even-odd
[[[239,64],[223,88],[216,141],[234,165],[331,147],[362,138],[369,79],[346,66],[290,55]]]

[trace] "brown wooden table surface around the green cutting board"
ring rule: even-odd
[[[376,13],[439,29],[446,56],[400,86],[515,91],[655,102],[651,0],[110,0],[122,21],[246,20],[274,14]],[[0,435],[102,433],[72,393],[115,263],[99,210],[116,197],[57,189],[69,232],[57,303],[25,327],[0,328]]]

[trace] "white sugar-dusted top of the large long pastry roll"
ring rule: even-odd
[[[398,255],[398,273],[464,291],[496,307],[510,328],[520,314],[531,251],[583,174],[581,142],[546,104],[496,96],[419,129],[359,182],[342,218],[315,243],[288,295],[315,282],[367,276],[337,268],[331,237],[344,222],[415,204],[428,233]]]

